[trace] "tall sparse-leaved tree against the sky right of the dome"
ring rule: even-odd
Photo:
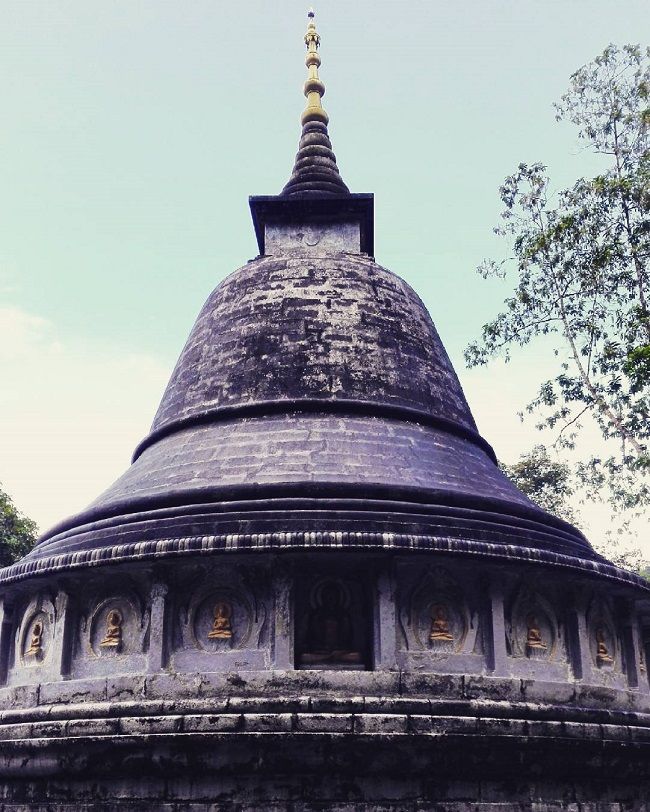
[[[505,309],[470,344],[469,366],[540,336],[555,339],[557,372],[527,411],[578,448],[591,416],[609,455],[581,454],[577,483],[617,510],[650,504],[650,49],[606,48],[580,68],[556,106],[557,119],[602,156],[604,169],[551,200],[541,163],[519,164],[500,189],[514,263],[485,262],[486,278],[516,286]]]

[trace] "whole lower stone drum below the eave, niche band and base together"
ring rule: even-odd
[[[645,809],[630,586],[545,572],[258,551],[17,582],[0,810]],[[327,589],[356,665],[310,650]]]

